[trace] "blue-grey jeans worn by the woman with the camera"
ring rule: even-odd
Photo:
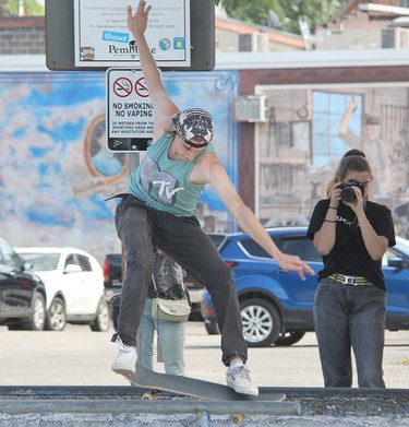
[[[353,286],[329,277],[318,283],[314,322],[325,387],[351,387],[351,347],[358,384],[384,388],[386,292],[375,285]]]

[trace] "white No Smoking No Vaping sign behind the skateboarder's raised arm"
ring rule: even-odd
[[[154,109],[141,70],[107,70],[107,146],[145,152],[154,133]]]

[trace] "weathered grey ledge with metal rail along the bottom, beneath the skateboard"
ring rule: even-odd
[[[160,393],[141,400],[134,387],[0,387],[1,427],[226,426],[241,414],[245,427],[351,425],[409,427],[409,390],[266,388],[284,402],[218,402]],[[236,418],[237,419],[237,418]]]

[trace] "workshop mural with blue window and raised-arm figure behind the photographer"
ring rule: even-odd
[[[268,98],[256,132],[265,224],[308,224],[353,147],[371,164],[371,199],[392,209],[397,234],[409,238],[409,85],[257,86],[257,94]]]

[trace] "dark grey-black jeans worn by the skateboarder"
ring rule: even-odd
[[[209,292],[221,333],[222,363],[229,365],[233,357],[245,363],[248,347],[231,270],[197,218],[157,211],[127,194],[117,206],[115,221],[125,248],[127,263],[118,316],[118,334],[122,342],[136,345],[153,272],[154,248],[159,248]]]

